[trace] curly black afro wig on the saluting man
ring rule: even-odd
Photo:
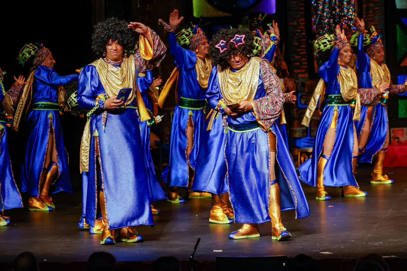
[[[136,33],[127,27],[128,24],[125,20],[118,20],[115,17],[98,23],[92,34],[92,50],[102,56],[106,52],[107,42],[112,39],[123,45],[123,54],[129,53],[136,47]]]

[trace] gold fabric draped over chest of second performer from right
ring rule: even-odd
[[[345,102],[356,99],[353,120],[360,120],[360,95],[357,93],[357,77],[353,69],[339,66],[338,81]]]

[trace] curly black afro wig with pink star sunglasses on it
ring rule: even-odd
[[[224,41],[230,41],[236,34],[245,35],[245,38],[243,39],[243,41],[245,41],[244,44],[240,44],[239,46],[235,47],[235,44],[233,42],[229,42],[229,48],[222,53],[219,48],[215,47],[222,39]],[[245,54],[246,56],[252,56],[253,50],[255,48],[256,46],[254,45],[254,36],[252,32],[250,32],[250,30],[246,28],[222,28],[215,35],[213,35],[212,40],[210,41],[209,55],[210,57],[212,57],[213,63],[215,65],[219,65],[220,69],[222,70],[229,67],[228,60],[230,59],[230,56],[232,54],[239,52]]]

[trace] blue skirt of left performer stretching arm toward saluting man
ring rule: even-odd
[[[58,159],[58,177],[50,187],[51,193],[61,190],[72,193],[72,184],[69,176],[68,153],[63,145],[63,135],[59,111],[33,110],[26,120],[27,131],[30,133],[24,165],[21,170],[21,191],[28,195],[39,196],[39,179],[44,165],[50,129],[54,130],[55,148]]]

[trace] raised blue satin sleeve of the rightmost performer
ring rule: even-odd
[[[357,85],[360,89],[371,89],[372,76],[370,75],[370,57],[363,50],[363,34],[358,37],[358,54],[356,59]]]

